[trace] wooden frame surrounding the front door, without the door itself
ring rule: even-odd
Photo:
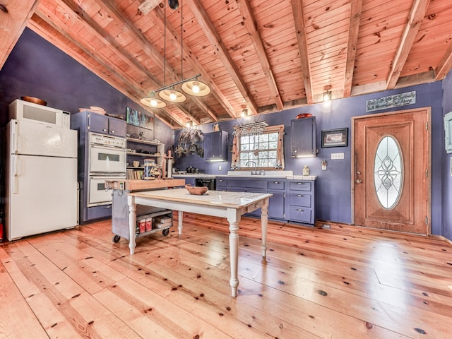
[[[430,235],[432,234],[432,107],[419,107],[419,108],[413,108],[413,109],[403,109],[399,111],[394,112],[386,112],[386,113],[377,113],[377,114],[365,114],[365,115],[359,115],[357,117],[352,117],[352,149],[351,149],[351,168],[350,168],[350,174],[351,174],[351,193],[352,193],[352,225],[355,225],[355,120],[357,119],[371,119],[375,117],[389,117],[396,114],[403,114],[403,113],[411,113],[411,112],[417,112],[417,111],[427,111],[427,124],[426,127],[428,129],[427,133],[427,233],[424,235]],[[378,229],[381,230],[381,229]],[[392,231],[392,232],[398,232],[398,231]],[[417,234],[417,233],[416,233]]]

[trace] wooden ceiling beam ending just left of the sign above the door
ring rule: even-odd
[[[347,64],[345,64],[345,82],[343,97],[352,94],[353,71],[358,44],[359,23],[361,21],[362,0],[352,0],[350,3],[350,25],[348,29]]]

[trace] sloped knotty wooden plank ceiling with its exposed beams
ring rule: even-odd
[[[173,10],[159,0],[0,0],[0,66],[28,25],[138,103],[201,74],[212,88],[206,97],[143,106],[175,129],[302,107],[326,91],[337,99],[427,83],[451,70],[450,0],[178,2]]]

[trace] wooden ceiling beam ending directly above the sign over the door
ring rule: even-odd
[[[403,65],[405,65],[408,54],[410,54],[412,44],[415,42],[417,32],[419,31],[422,20],[424,19],[429,3],[430,0],[413,1],[410,15],[408,16],[408,23],[405,25],[402,37],[400,37],[398,49],[392,62],[393,66],[391,67],[388,79],[386,80],[386,90],[391,90],[396,86],[400,73],[402,72]]]

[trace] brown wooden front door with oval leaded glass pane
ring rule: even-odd
[[[430,108],[352,119],[355,225],[430,233]]]

